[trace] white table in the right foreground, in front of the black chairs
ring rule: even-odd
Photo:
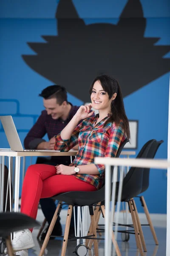
[[[170,161],[167,160],[153,160],[153,159],[122,159],[109,157],[96,157],[94,162],[96,164],[105,164],[105,256],[111,256],[111,238],[109,236],[110,220],[110,195],[111,195],[111,166],[133,166],[154,169],[168,169],[170,168]],[[112,186],[115,187],[115,186]],[[113,194],[113,190],[112,190]],[[112,198],[115,198],[113,196]],[[114,204],[112,204],[114,205]],[[170,207],[170,195],[167,194],[167,207]],[[113,209],[111,209],[112,211]],[[169,220],[169,216],[167,216]],[[117,225],[118,223],[116,223]],[[167,236],[170,237],[170,222],[167,221]],[[116,237],[116,234],[115,234]],[[167,244],[166,256],[170,255],[170,246]]]

